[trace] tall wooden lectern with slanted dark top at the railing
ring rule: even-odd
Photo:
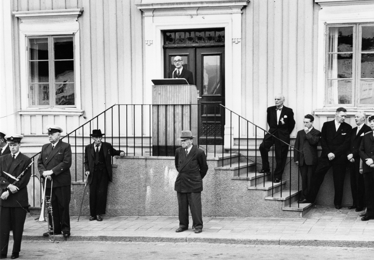
[[[185,79],[152,80],[152,155],[174,156],[182,130],[191,130],[197,145],[197,89]],[[171,84],[172,83],[172,84]]]

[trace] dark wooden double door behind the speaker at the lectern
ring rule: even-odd
[[[174,57],[181,56],[183,68],[193,73],[199,91],[199,144],[222,145],[225,104],[225,54],[223,47],[165,49],[165,77],[175,69]]]

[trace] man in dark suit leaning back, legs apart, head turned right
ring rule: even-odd
[[[349,149],[352,126],[345,123],[347,116],[345,108],[336,109],[335,119],[325,122],[321,131],[322,153],[318,161],[316,172],[312,178],[312,185],[305,199],[300,203],[314,202],[319,187],[324,181],[329,168],[332,167],[332,177],[334,179],[334,205],[336,209],[341,208],[343,199],[344,177],[347,170],[347,150]]]

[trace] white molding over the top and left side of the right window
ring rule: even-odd
[[[316,3],[322,0],[315,0]],[[325,1],[327,2],[327,1]],[[338,2],[338,1],[336,1]],[[340,1],[342,2],[342,1]],[[325,5],[318,13],[318,58],[317,58],[317,96],[323,97],[317,99],[317,109],[332,108],[326,107],[325,104],[325,26],[327,24],[350,24],[362,22],[374,22],[374,5],[373,4],[353,4],[359,2],[352,0],[350,5]],[[346,109],[364,109],[355,107],[346,107]],[[318,110],[316,110],[318,111]],[[353,110],[352,110],[353,111]],[[335,115],[335,112],[334,112]]]

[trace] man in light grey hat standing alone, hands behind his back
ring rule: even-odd
[[[192,145],[191,131],[182,131],[182,147],[175,151],[175,168],[178,171],[174,190],[178,198],[179,228],[175,232],[183,232],[188,229],[188,205],[192,216],[192,229],[195,233],[201,233],[203,217],[201,211],[201,192],[203,190],[203,178],[208,171],[206,155],[202,149]]]

